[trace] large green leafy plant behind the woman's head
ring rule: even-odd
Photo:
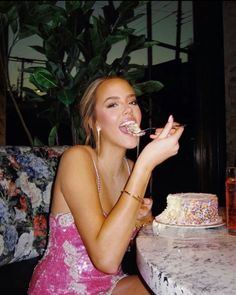
[[[0,4],[14,42],[36,34],[42,45],[31,47],[45,57],[45,66],[30,67],[30,82],[43,95],[24,88],[31,100],[44,105],[44,116],[50,121],[48,145],[63,144],[58,132],[61,124],[71,130],[72,143],[83,142],[77,105],[91,81],[100,76],[120,75],[130,80],[137,95],[144,97],[162,88],[159,81],[146,81],[145,67],[132,64],[130,54],[156,44],[145,35],[135,34],[130,24],[140,18],[135,9],[145,1],[107,1],[97,15],[97,1],[20,1]],[[117,4],[117,3],[116,3]],[[27,12],[27,13],[26,13]],[[118,42],[123,52],[108,63],[108,54]],[[14,44],[13,44],[14,45]],[[12,46],[13,46],[12,45]],[[12,47],[11,46],[11,47]],[[34,145],[43,144],[38,139]]]

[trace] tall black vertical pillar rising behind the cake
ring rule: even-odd
[[[198,187],[225,203],[225,95],[222,1],[193,1]]]

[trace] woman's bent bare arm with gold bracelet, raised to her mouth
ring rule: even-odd
[[[132,236],[141,202],[152,170],[178,151],[183,129],[168,136],[173,122],[167,123],[158,138],[150,142],[137,159],[125,191],[105,218],[102,212],[91,155],[81,147],[62,157],[57,183],[74,216],[76,226],[95,266],[113,273],[119,267]]]

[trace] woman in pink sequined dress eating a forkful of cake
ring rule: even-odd
[[[177,154],[183,128],[173,129],[170,116],[134,164],[125,156],[139,139],[125,125],[141,122],[132,86],[119,77],[98,79],[80,107],[90,145],[73,146],[61,158],[49,244],[28,294],[150,294],[120,265],[137,228],[150,221],[152,201],[143,196],[151,172]]]

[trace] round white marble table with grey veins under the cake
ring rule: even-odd
[[[236,236],[225,226],[156,232],[148,225],[136,243],[139,271],[155,294],[236,294]]]

